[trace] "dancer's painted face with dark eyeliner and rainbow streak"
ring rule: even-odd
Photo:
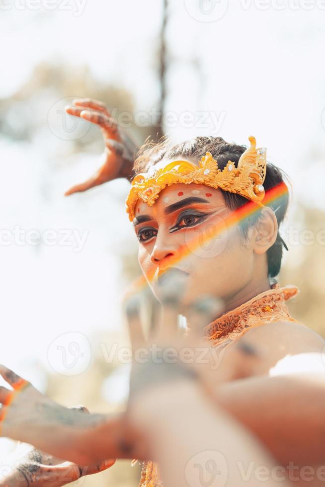
[[[172,184],[151,207],[139,200],[135,212],[139,263],[158,299],[168,268],[184,278],[184,306],[207,295],[229,299],[250,281],[254,252],[229,224],[233,212],[219,189]]]

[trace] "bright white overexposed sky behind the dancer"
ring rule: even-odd
[[[74,15],[73,0],[70,10],[18,9],[15,1],[10,9],[0,6],[0,97],[13,94],[38,63],[53,61],[70,64],[72,71],[86,64],[98,83],[129,89],[136,111],[156,105],[161,1],[86,0],[81,15]],[[202,22],[188,13],[193,1],[170,1],[167,110],[205,111],[209,124],[166,127],[168,134],[175,140],[210,134],[213,113],[220,122],[214,134],[241,144],[255,135],[270,159],[289,173],[295,197],[324,206],[325,10],[293,10],[284,0],[277,2],[283,10],[261,10],[256,1],[231,0],[222,18]],[[220,0],[217,8],[225,5]],[[42,117],[54,101],[49,95]],[[91,173],[96,159],[80,155],[60,171],[45,167],[44,151],[62,157],[68,143],[49,130],[44,138],[41,134],[30,144],[0,139],[2,228],[72,228],[88,237],[81,252],[60,245],[0,247],[6,337],[0,355],[18,372],[34,359],[51,370],[47,349],[60,334],[78,331],[91,338],[94,330],[120,327],[117,248],[136,246],[123,209],[128,184],[115,181],[63,198],[70,183]],[[44,183],[46,197],[40,191]]]

